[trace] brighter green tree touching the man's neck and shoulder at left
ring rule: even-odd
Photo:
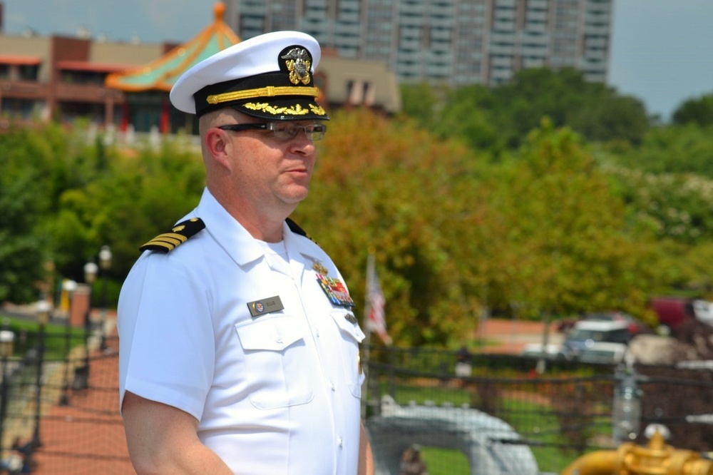
[[[104,150],[105,170],[86,186],[63,191],[56,219],[54,258],[63,275],[82,279],[84,263],[102,245],[114,255],[111,274],[123,278],[138,247],[195,208],[205,186],[200,152],[184,138],[159,150]]]

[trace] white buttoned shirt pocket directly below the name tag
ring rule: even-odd
[[[304,330],[292,315],[265,316],[235,325],[245,354],[250,402],[257,409],[307,404],[314,398]]]

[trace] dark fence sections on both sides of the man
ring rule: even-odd
[[[51,338],[66,343],[66,335]],[[71,334],[71,351],[48,357],[37,342],[21,335],[22,356],[0,361],[4,463],[24,459],[34,474],[133,474],[118,414],[116,337],[102,344]],[[523,357],[372,347],[363,399],[381,473],[398,475],[416,446],[431,475],[525,475],[533,464],[558,473],[585,452],[645,444],[652,423],[664,424],[677,448],[712,449],[710,370],[537,367]]]

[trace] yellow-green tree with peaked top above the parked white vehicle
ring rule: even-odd
[[[543,123],[493,179],[506,285],[492,286],[492,305],[517,302],[534,315],[646,313],[646,289],[660,280],[650,268],[655,242],[631,233],[624,203],[575,133]]]

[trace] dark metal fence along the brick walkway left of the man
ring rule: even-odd
[[[0,362],[0,474],[135,474],[118,414],[116,337],[48,334],[43,346],[60,351],[46,356],[39,340],[19,332],[24,356]]]

